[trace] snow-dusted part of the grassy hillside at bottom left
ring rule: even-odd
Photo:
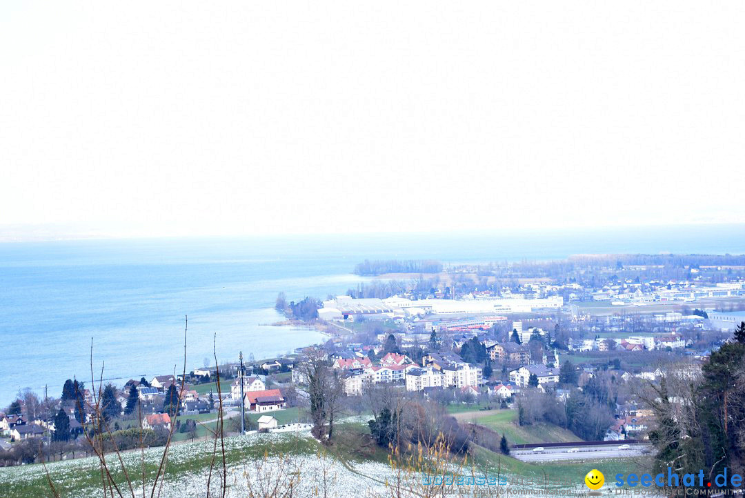
[[[241,437],[225,439],[225,450],[227,454],[246,450],[253,445],[260,444],[261,447],[272,447],[275,444],[283,444],[287,447],[299,438],[310,438],[309,433],[271,432],[264,434],[252,434]],[[219,447],[219,445],[218,445]],[[197,441],[194,443],[174,444],[168,452],[168,467],[181,470],[178,473],[167,473],[162,487],[159,486],[161,497],[200,497],[206,494],[209,467],[191,469],[191,462],[199,459],[209,461],[212,453],[212,441]],[[162,456],[162,448],[150,448],[145,450],[145,465],[158,465]],[[142,455],[137,451],[122,454],[124,465],[130,472],[136,472],[139,468]],[[115,455],[107,456],[110,469],[119,468],[118,459]],[[98,459],[74,459],[64,462],[53,462],[48,464],[47,469],[52,482],[57,490],[65,497],[100,497],[100,483],[92,482],[91,474],[98,472]],[[218,488],[222,481],[221,463],[215,465],[212,473],[212,490]],[[312,496],[316,490],[324,487],[330,490],[329,497],[348,496],[352,491],[362,496],[372,496],[374,490],[378,493],[384,491],[382,479],[390,475],[390,468],[379,463],[364,463],[355,465],[354,471],[343,465],[343,463],[331,456],[320,454],[297,454],[288,456],[259,456],[246,462],[232,462],[227,467],[227,490],[230,497],[245,497],[250,491],[256,491],[262,486],[278,485],[280,488],[293,485],[297,492],[293,496]],[[42,465],[23,465],[20,467],[0,468],[0,495],[2,497],[22,496],[20,491],[25,485],[45,479],[45,470]],[[131,496],[129,487],[124,479],[118,485],[125,496]],[[134,493],[136,497],[142,497],[142,480],[135,482]],[[145,494],[149,497],[152,488],[152,480],[145,486]],[[367,491],[370,491],[369,493]]]

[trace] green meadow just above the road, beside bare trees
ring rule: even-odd
[[[519,426],[515,410],[489,410],[488,412],[461,412],[461,422],[475,422],[507,437],[510,444],[558,443],[582,441],[573,432],[553,424]]]

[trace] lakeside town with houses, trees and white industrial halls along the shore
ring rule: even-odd
[[[171,434],[172,442],[210,438],[221,421],[226,433],[313,427],[330,439],[334,413],[373,415],[365,437],[387,441],[373,402],[381,391],[437,406],[481,438],[501,436],[495,447],[528,462],[548,446],[569,446],[562,459],[592,459],[577,444],[603,441],[633,443],[614,454],[646,454],[661,382],[685,380],[694,392],[702,365],[745,322],[742,256],[368,261],[355,272],[371,278],[347,295],[276,300],[288,319],[326,331],[323,344],[263,360],[245,348],[235,362],[121,386],[72,378],[59,397],[22,390],[0,413],[0,461],[89,456],[86,430],[98,417],[118,450],[136,447],[143,433],[153,447]],[[318,383],[322,371],[333,382]],[[332,400],[320,421],[315,398]],[[689,402],[678,391],[669,409]]]

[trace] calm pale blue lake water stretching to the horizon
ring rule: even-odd
[[[323,340],[262,324],[288,299],[344,293],[376,258],[445,262],[546,260],[577,253],[745,252],[745,226],[679,226],[492,234],[387,234],[255,239],[82,240],[0,244],[0,406],[19,389],[58,396],[64,380],[152,377],[218,360],[270,357]],[[210,364],[214,361],[210,360]]]

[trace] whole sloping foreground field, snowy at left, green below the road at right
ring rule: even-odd
[[[107,456],[110,472],[118,485],[118,491],[114,490],[113,495],[119,496],[121,492],[123,497],[204,497],[208,479],[211,480],[210,496],[221,496],[219,490],[223,482],[228,497],[276,496],[270,491],[272,488],[288,487],[292,488],[293,497],[390,497],[391,489],[386,482],[389,485],[400,482],[405,489],[416,490],[414,493],[402,492],[402,496],[417,496],[423,491],[422,474],[396,472],[379,459],[371,462],[349,458],[349,452],[343,447],[332,446],[331,452],[327,452],[309,433],[257,433],[225,438],[226,473],[223,480],[219,442],[218,458],[210,476],[213,444],[213,441],[196,441],[172,446],[165,466],[165,479],[156,485],[154,494],[153,479],[162,456],[162,447],[150,448],[142,453],[139,450],[122,453],[132,488],[124,479],[116,456]],[[581,484],[582,476],[587,472],[586,462],[530,465],[478,447],[475,454],[469,457],[468,465],[474,462],[474,457],[476,467],[457,467],[454,463],[448,463],[447,468],[452,468],[456,476],[503,476],[510,491],[536,491],[535,494],[522,494],[524,497],[544,496],[535,483],[548,474],[571,479],[574,484],[570,487],[574,489]],[[593,462],[594,467],[608,473],[628,471],[632,464],[630,460],[623,459]],[[46,466],[37,464],[0,468],[0,496],[54,496],[45,467],[60,497],[101,497],[101,468],[95,458],[53,462]],[[532,481],[525,482],[525,478]],[[562,489],[567,486],[551,485]],[[493,485],[466,485],[465,488],[461,485],[452,488],[449,494],[466,491],[472,494],[477,489],[482,496],[496,496],[495,493],[499,491]],[[215,491],[218,493],[215,494]],[[504,488],[502,491],[505,491]]]

